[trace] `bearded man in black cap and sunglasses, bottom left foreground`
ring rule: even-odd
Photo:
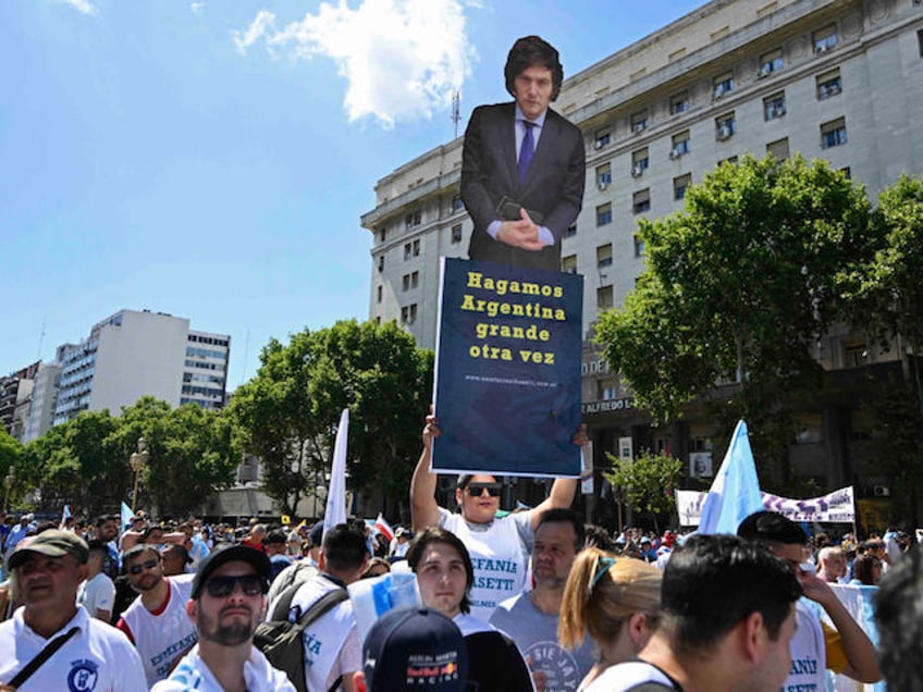
[[[151,692],[294,692],[285,674],[254,646],[270,574],[269,558],[244,545],[202,560],[186,603],[199,642]]]

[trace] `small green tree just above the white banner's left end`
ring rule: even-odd
[[[611,467],[603,475],[635,511],[650,512],[656,526],[656,515],[676,510],[674,491],[682,472],[680,459],[648,450],[633,459],[622,459],[606,452],[606,458]]]

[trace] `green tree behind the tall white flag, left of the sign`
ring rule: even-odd
[[[432,379],[431,355],[409,334],[393,322],[341,321],[294,334],[287,346],[271,339],[260,363],[229,412],[262,461],[263,491],[283,511],[295,514],[329,472],[344,408],[349,485],[385,502],[406,497]]]

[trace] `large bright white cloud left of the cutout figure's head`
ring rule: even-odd
[[[430,118],[446,108],[477,59],[465,33],[465,0],[364,0],[356,9],[340,0],[317,14],[276,28],[260,11],[234,32],[244,53],[264,41],[273,57],[331,59],[347,82],[344,107],[350,121],[372,116],[385,127]]]

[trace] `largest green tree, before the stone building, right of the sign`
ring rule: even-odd
[[[822,161],[722,164],[682,212],[640,223],[645,270],[596,341],[655,420],[694,397],[728,435],[746,418],[782,490],[793,430],[782,403],[821,382],[812,347],[845,314],[842,268],[874,252],[869,218],[864,190]]]

